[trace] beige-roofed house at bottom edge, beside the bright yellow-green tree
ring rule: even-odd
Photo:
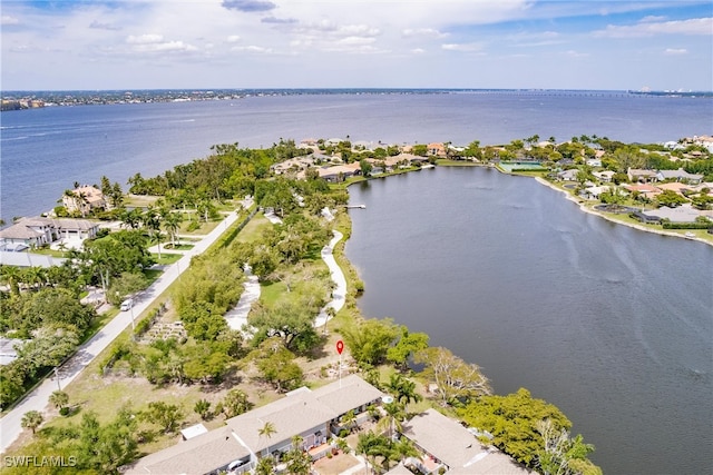
[[[436,409],[428,409],[414,416],[404,423],[402,428],[402,435],[423,454],[419,461],[412,461],[423,473],[442,472],[453,475],[530,473],[501,452],[482,446],[467,428]]]

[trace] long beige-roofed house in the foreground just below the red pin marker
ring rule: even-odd
[[[356,422],[363,422],[367,408],[382,397],[383,393],[356,375],[314,390],[302,387],[227,419],[224,427],[147,455],[123,473],[203,475],[226,469],[243,473],[254,468],[264,456],[280,458],[292,448],[293,436],[302,437],[304,449],[325,444],[339,431],[344,414],[354,410]]]

